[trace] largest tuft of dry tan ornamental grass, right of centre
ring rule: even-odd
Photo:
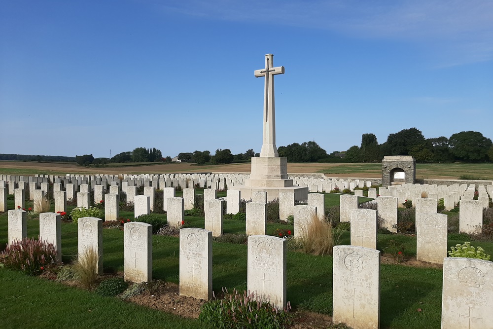
[[[297,240],[307,254],[332,255],[332,248],[339,243],[343,232],[343,230],[334,229],[330,221],[320,220],[317,215],[314,215],[308,226],[301,228]]]

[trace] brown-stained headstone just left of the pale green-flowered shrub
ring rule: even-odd
[[[416,213],[416,259],[442,264],[447,257],[447,215]]]

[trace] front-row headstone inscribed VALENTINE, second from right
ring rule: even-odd
[[[380,251],[356,246],[335,246],[333,251],[333,323],[378,329]]]

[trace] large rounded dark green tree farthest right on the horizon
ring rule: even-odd
[[[462,131],[450,136],[449,146],[458,160],[481,162],[488,161],[492,140],[477,131]]]

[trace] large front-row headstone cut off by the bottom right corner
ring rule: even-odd
[[[473,258],[443,261],[442,328],[485,329],[493,324],[493,262]]]

